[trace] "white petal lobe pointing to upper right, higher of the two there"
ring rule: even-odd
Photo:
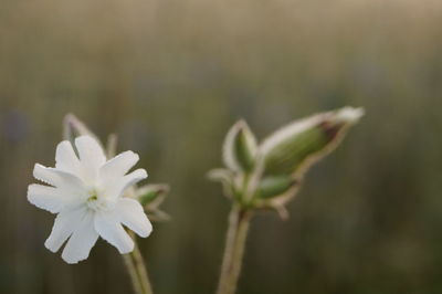
[[[123,177],[138,160],[139,156],[133,151],[117,155],[99,169],[101,180],[106,183]]]

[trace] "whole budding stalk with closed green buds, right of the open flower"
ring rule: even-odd
[[[362,108],[352,107],[320,113],[280,128],[261,144],[244,120],[231,127],[222,148],[224,168],[209,172],[232,201],[217,294],[236,291],[254,212],[272,209],[286,219],[286,204],[308,169],[330,154],[362,115]]]

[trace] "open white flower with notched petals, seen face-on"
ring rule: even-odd
[[[152,230],[141,204],[123,197],[127,188],[147,178],[144,169],[126,175],[138,155],[125,151],[106,161],[103,148],[90,136],[76,138],[75,146],[80,158],[64,140],[56,147],[55,168],[35,165],[34,177],[50,186],[28,188],[31,203],[57,213],[44,245],[56,252],[69,239],[62,253],[67,263],[87,259],[98,237],[119,253],[129,253],[134,241],[122,224],[144,238]]]

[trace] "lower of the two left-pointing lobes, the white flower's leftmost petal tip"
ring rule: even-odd
[[[28,200],[38,208],[57,213],[63,209],[75,204],[80,200],[63,193],[60,189],[43,185],[32,183],[28,187]]]

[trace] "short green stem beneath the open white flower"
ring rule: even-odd
[[[135,242],[134,251],[123,255],[126,269],[129,273],[130,281],[136,294],[152,294],[149,277],[147,275],[146,264],[143,260],[141,252]]]

